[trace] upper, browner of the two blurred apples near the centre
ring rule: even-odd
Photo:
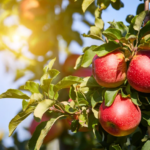
[[[76,60],[80,55],[78,54],[71,54],[69,55],[63,66],[62,66],[62,71],[67,74],[67,75],[71,75],[75,70],[74,70],[74,66],[76,64]]]

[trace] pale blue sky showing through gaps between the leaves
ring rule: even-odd
[[[112,9],[111,6],[102,13],[102,19],[105,23],[105,29],[108,27],[108,21],[123,21],[126,25],[128,24],[125,21],[125,18],[129,14],[135,15],[136,8],[141,1],[139,0],[122,0],[124,2],[124,8],[121,8],[119,11]],[[66,1],[67,2],[67,1]],[[64,5],[67,5],[67,3]],[[81,34],[87,33],[89,27],[81,23],[80,15],[75,14],[73,16],[75,21],[72,25],[73,30],[79,31]],[[94,24],[94,18],[90,14],[86,14],[86,18]],[[27,32],[30,34],[30,32]],[[72,53],[82,53],[82,48],[90,45],[100,45],[102,42],[97,40],[92,40],[90,38],[83,38],[84,45],[81,47],[76,42],[70,44],[70,50]],[[12,47],[16,48],[18,45],[13,45]],[[60,53],[60,61],[64,62],[66,56],[63,53]],[[8,65],[11,67],[11,71],[6,72],[5,64],[9,62]],[[14,61],[14,57],[7,57],[7,52],[0,52],[0,93],[5,92],[7,89],[14,88],[17,89],[20,85],[23,85],[26,80],[29,79],[30,75],[25,76],[22,79],[19,79],[17,82],[13,82],[15,77],[14,71],[15,66],[18,65],[18,62]],[[20,64],[19,64],[20,65]],[[8,124],[9,121],[21,110],[22,100],[19,99],[0,99],[0,131],[5,133],[5,144],[12,145],[11,138],[8,137]],[[25,140],[30,137],[30,134],[25,131],[23,128],[28,127],[32,120],[32,115],[29,116],[25,121],[23,121],[17,128],[19,133],[20,140]]]

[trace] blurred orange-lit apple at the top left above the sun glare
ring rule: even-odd
[[[39,30],[46,22],[46,15],[49,11],[47,0],[23,0],[19,5],[20,21],[27,28]]]

